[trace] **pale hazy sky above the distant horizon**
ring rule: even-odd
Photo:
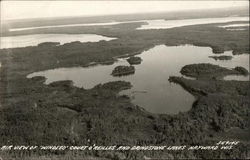
[[[1,18],[109,15],[249,6],[248,1],[1,1]]]

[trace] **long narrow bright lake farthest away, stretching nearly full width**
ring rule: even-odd
[[[249,17],[197,18],[197,19],[179,19],[179,20],[157,19],[157,20],[138,20],[138,21],[123,21],[123,22],[116,21],[116,22],[105,22],[105,23],[83,23],[83,24],[49,25],[49,26],[25,27],[25,28],[10,28],[9,31],[14,32],[14,31],[33,30],[33,29],[79,27],[79,26],[106,26],[106,25],[117,25],[117,24],[136,23],[136,22],[147,23],[137,28],[138,30],[170,29],[170,28],[183,27],[189,25],[227,23],[233,21],[249,21]]]

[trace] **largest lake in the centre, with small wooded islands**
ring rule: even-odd
[[[182,76],[180,70],[184,65],[193,63],[213,63],[233,68],[243,66],[249,69],[249,55],[235,55],[229,61],[216,61],[209,56],[214,55],[209,47],[165,46],[158,45],[142,52],[140,65],[135,65],[135,74],[113,77],[112,70],[118,65],[129,65],[125,58],[118,59],[112,65],[96,65],[90,67],[58,68],[35,72],[28,75],[45,76],[46,84],[59,80],[72,80],[77,87],[90,89],[97,84],[110,81],[129,81],[133,87],[120,94],[132,98],[132,102],[152,113],[176,114],[188,111],[195,98],[180,85],[169,83],[169,76]],[[231,51],[223,55],[232,55]]]

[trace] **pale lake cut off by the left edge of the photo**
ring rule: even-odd
[[[0,37],[0,49],[36,46],[43,42],[60,42],[60,44],[73,41],[99,42],[110,41],[116,38],[105,37],[96,34],[31,34],[21,36]]]

